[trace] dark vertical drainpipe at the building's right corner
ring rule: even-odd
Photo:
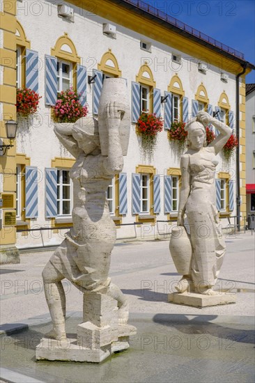
[[[238,231],[240,231],[240,147],[239,147],[239,142],[240,142],[240,121],[239,121],[239,115],[240,115],[240,102],[239,102],[239,79],[240,76],[244,75],[246,72],[248,62],[246,62],[244,65],[242,65],[242,72],[238,73],[236,76],[236,97],[235,97],[235,127],[236,127],[236,138],[238,139],[238,147],[236,148],[236,215],[237,215],[237,226],[238,226]]]

